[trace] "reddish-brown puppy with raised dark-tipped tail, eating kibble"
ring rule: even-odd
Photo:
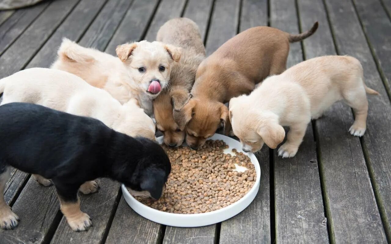
[[[219,127],[230,132],[228,108],[231,98],[250,93],[255,84],[286,69],[289,43],[311,36],[310,30],[298,35],[271,27],[253,27],[228,40],[197,69],[191,94],[193,98],[174,118],[181,129],[186,128],[186,142],[197,149]]]

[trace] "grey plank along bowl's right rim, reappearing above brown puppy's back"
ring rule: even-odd
[[[239,32],[267,25],[267,1],[242,2]],[[270,169],[269,148],[258,155],[261,182],[254,201],[237,216],[221,223],[220,243],[270,243]],[[274,241],[274,240],[273,240]]]

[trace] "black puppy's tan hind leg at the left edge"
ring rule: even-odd
[[[3,167],[0,169],[0,192],[3,194],[5,189],[5,183],[7,183],[11,168]],[[4,195],[0,197],[0,227],[4,230],[12,230],[19,224],[19,217],[12,212],[11,208],[7,205],[4,199]]]

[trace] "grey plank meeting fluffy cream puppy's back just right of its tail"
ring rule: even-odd
[[[131,5],[129,0],[108,1],[86,34],[80,45],[104,50],[118,25]]]

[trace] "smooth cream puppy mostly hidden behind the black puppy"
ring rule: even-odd
[[[152,119],[138,107],[134,98],[121,105],[109,93],[88,85],[84,80],[68,72],[31,68],[19,71],[0,80],[1,104],[12,102],[36,103],[70,114],[99,119],[105,125],[129,136],[142,136],[156,140]],[[33,176],[42,185],[51,182],[41,176]],[[81,192],[95,192],[95,181],[86,182]]]

